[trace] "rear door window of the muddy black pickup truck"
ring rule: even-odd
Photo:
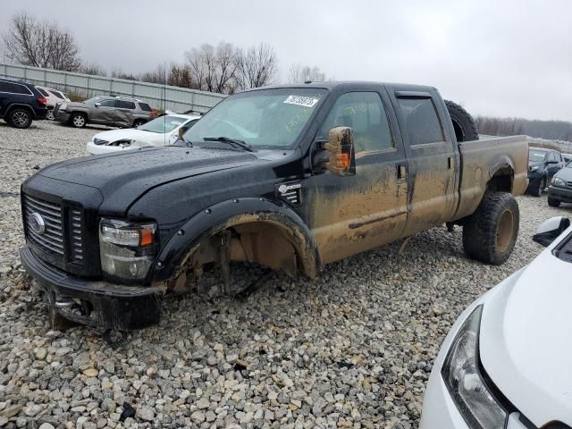
[[[409,144],[424,145],[445,140],[437,112],[431,98],[398,98]]]

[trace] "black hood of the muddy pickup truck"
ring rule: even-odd
[[[47,166],[38,175],[97,188],[101,214],[124,213],[149,189],[199,174],[264,162],[248,152],[202,147],[149,147]]]

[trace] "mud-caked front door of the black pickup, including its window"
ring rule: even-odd
[[[356,154],[354,176],[318,172],[304,184],[324,264],[397,240],[405,228],[407,158],[388,103],[383,87],[342,93],[316,136],[324,140],[334,127],[351,127]]]

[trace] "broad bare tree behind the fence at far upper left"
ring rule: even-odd
[[[80,68],[80,48],[71,33],[55,22],[17,13],[2,38],[6,56],[17,63],[64,71]]]

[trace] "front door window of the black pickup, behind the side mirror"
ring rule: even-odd
[[[327,137],[334,127],[351,127],[356,153],[395,147],[382,97],[376,92],[343,94],[328,114],[320,130]]]

